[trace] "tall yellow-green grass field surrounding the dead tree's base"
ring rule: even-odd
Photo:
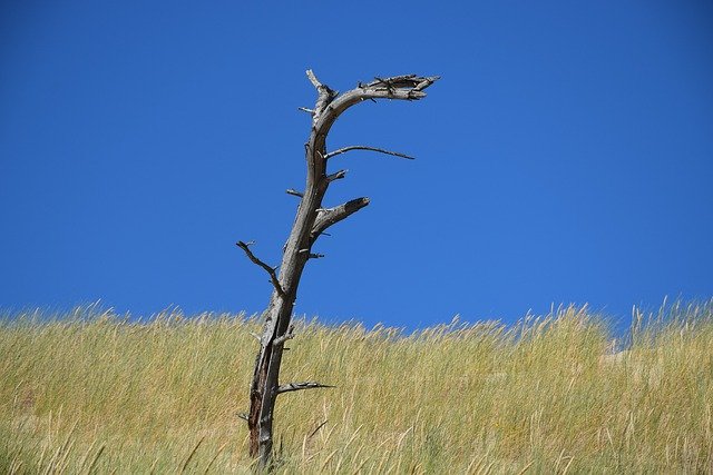
[[[10,318],[12,317],[12,318]],[[234,315],[136,323],[96,307],[0,324],[0,473],[246,473],[258,330]],[[277,473],[713,473],[713,301],[603,320],[365,329],[303,321]]]

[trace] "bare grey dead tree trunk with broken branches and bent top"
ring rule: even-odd
[[[260,340],[260,352],[255,359],[250,388],[250,412],[243,415],[250,428],[250,454],[258,457],[261,466],[266,466],[272,456],[273,412],[277,396],[293,390],[330,387],[318,382],[280,384],[280,365],[284,344],[293,337],[291,319],[302,271],[307,260],[323,257],[312,248],[319,237],[332,225],[369,205],[369,198],[356,198],[333,208],[322,207],[322,198],[329,186],[346,175],[346,170],[328,172],[328,161],[351,150],[370,150],[412,158],[395,151],[367,146],[351,146],[328,151],[326,136],[334,121],[350,107],[364,100],[422,99],[426,97],[423,90],[439,79],[416,75],[375,78],[369,83],[360,82],[356,88],[340,95],[320,82],[312,70],[307,70],[306,73],[318,91],[314,109],[301,108],[312,116],[310,139],[304,145],[307,161],[306,186],[304,191],[287,190],[287,194],[297,196],[301,200],[290,238],[283,249],[282,264],[279,267],[271,267],[253,254],[251,249],[253,243],[237,243],[250,260],[267,273],[274,287],[270,304],[263,314],[262,336],[256,335]]]

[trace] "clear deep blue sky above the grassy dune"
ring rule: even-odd
[[[297,313],[408,327],[554,303],[626,318],[713,296],[713,6],[3,2],[0,306],[261,310],[304,182],[315,91],[362,103]]]

